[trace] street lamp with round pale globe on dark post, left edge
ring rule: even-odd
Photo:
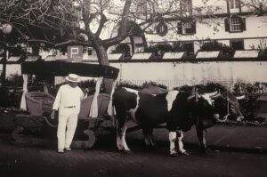
[[[9,35],[12,32],[12,26],[8,23],[1,24],[0,23],[0,29],[4,33],[4,35]],[[8,51],[7,48],[4,47],[4,58],[3,58],[3,68],[2,68],[2,74],[1,74],[1,81],[2,85],[5,85],[5,73],[6,73],[6,60],[8,59]]]

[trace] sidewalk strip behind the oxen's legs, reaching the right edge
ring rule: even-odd
[[[133,124],[131,124],[133,126]],[[142,139],[142,131],[132,132],[131,138]],[[168,141],[168,131],[158,128],[154,131],[156,141]],[[195,127],[184,133],[184,146],[198,148]],[[214,125],[207,129],[207,146],[213,150],[229,150],[247,153],[267,154],[267,127],[244,125]]]

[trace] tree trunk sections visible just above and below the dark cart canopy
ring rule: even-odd
[[[105,46],[96,45],[95,51],[97,54],[99,64],[109,66],[109,56],[108,56],[108,52],[107,52],[107,49],[105,48]],[[103,79],[103,84],[104,84],[104,88],[105,88],[106,93],[108,93],[108,94],[111,93],[113,82],[114,82],[113,79],[108,79],[108,78]]]

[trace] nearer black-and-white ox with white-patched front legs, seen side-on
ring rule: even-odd
[[[187,155],[183,149],[183,132],[196,126],[200,149],[206,149],[206,128],[214,125],[218,115],[214,112],[211,94],[198,92],[159,92],[152,94],[139,92],[129,88],[118,88],[113,94],[113,104],[117,112],[117,148],[130,152],[126,141],[125,131],[127,121],[132,118],[142,126],[145,144],[153,146],[153,128],[166,123],[169,130],[170,155],[175,156],[175,142],[178,140],[179,151]]]

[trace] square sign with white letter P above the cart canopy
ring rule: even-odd
[[[82,61],[83,60],[83,46],[69,45],[68,46],[68,61]]]

